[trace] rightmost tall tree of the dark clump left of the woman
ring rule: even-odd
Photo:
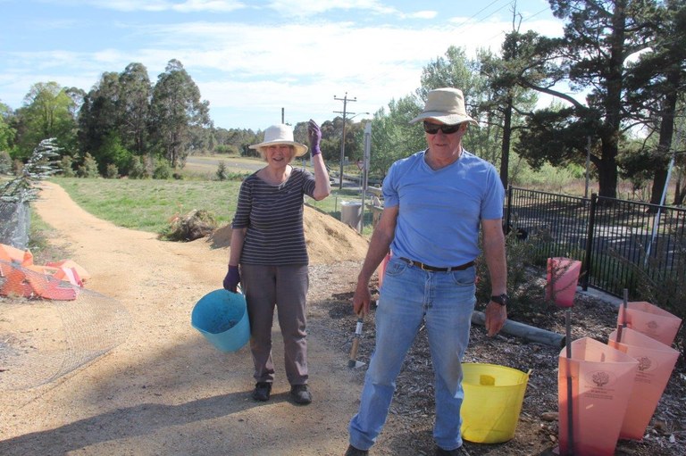
[[[150,135],[172,168],[182,166],[191,145],[191,131],[209,126],[209,103],[178,60],[167,63],[157,78],[150,108]]]

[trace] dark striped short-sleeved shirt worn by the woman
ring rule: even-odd
[[[266,266],[307,264],[303,228],[303,196],[314,194],[314,176],[293,168],[286,182],[275,186],[248,176],[238,192],[231,227],[247,228],[240,262]]]

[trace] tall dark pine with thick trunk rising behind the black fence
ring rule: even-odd
[[[534,167],[542,162],[585,161],[588,137],[590,161],[598,170],[598,194],[615,197],[617,153],[629,119],[627,59],[650,46],[654,0],[548,0],[553,14],[565,20],[564,37],[540,37],[530,32],[530,64],[517,83],[553,95],[566,105],[531,115],[529,134],[515,150]],[[541,76],[543,76],[542,79]],[[574,95],[559,89],[570,87]],[[585,94],[585,102],[580,101]]]

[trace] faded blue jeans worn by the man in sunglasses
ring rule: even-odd
[[[406,353],[426,324],[434,369],[433,438],[444,450],[462,445],[462,358],[476,302],[475,269],[431,272],[391,258],[376,311],[376,347],[350,421],[350,444],[368,450],[386,422]]]

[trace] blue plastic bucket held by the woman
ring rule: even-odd
[[[250,338],[246,298],[241,293],[214,290],[193,308],[190,324],[222,352],[237,352]]]

